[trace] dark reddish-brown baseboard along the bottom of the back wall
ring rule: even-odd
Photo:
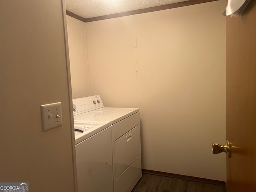
[[[179,175],[179,174],[173,174],[173,173],[166,173],[166,172],[160,172],[160,171],[153,171],[153,170],[147,170],[147,169],[142,169],[142,173],[155,174],[155,175],[161,175],[161,176],[166,176],[166,177],[173,177],[173,178],[178,178],[178,179],[196,181],[196,182],[201,182],[201,183],[220,185],[220,186],[224,186],[226,188],[226,182],[224,182],[224,181],[205,179],[205,178],[186,176],[186,175]]]

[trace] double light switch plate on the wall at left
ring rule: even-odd
[[[61,102],[41,105],[41,114],[43,131],[62,126]]]

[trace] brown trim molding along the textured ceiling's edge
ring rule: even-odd
[[[111,18],[116,18],[116,17],[123,17],[123,16],[129,16],[129,15],[135,15],[135,14],[142,14],[142,13],[172,9],[172,8],[177,8],[177,7],[184,7],[184,6],[212,2],[212,1],[219,1],[219,0],[189,0],[189,1],[184,1],[184,2],[178,2],[178,3],[173,3],[173,4],[161,5],[161,6],[150,7],[150,8],[139,9],[139,10],[132,10],[132,11],[127,11],[127,12],[115,13],[115,14],[92,17],[92,18],[82,18],[81,16],[78,16],[70,11],[66,11],[66,13],[68,16],[76,18],[80,21],[92,22],[92,21],[111,19]]]

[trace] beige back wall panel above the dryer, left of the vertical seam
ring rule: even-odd
[[[135,16],[86,23],[90,94],[138,107]]]

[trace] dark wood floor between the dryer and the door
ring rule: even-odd
[[[225,192],[224,186],[142,173],[132,192]]]

